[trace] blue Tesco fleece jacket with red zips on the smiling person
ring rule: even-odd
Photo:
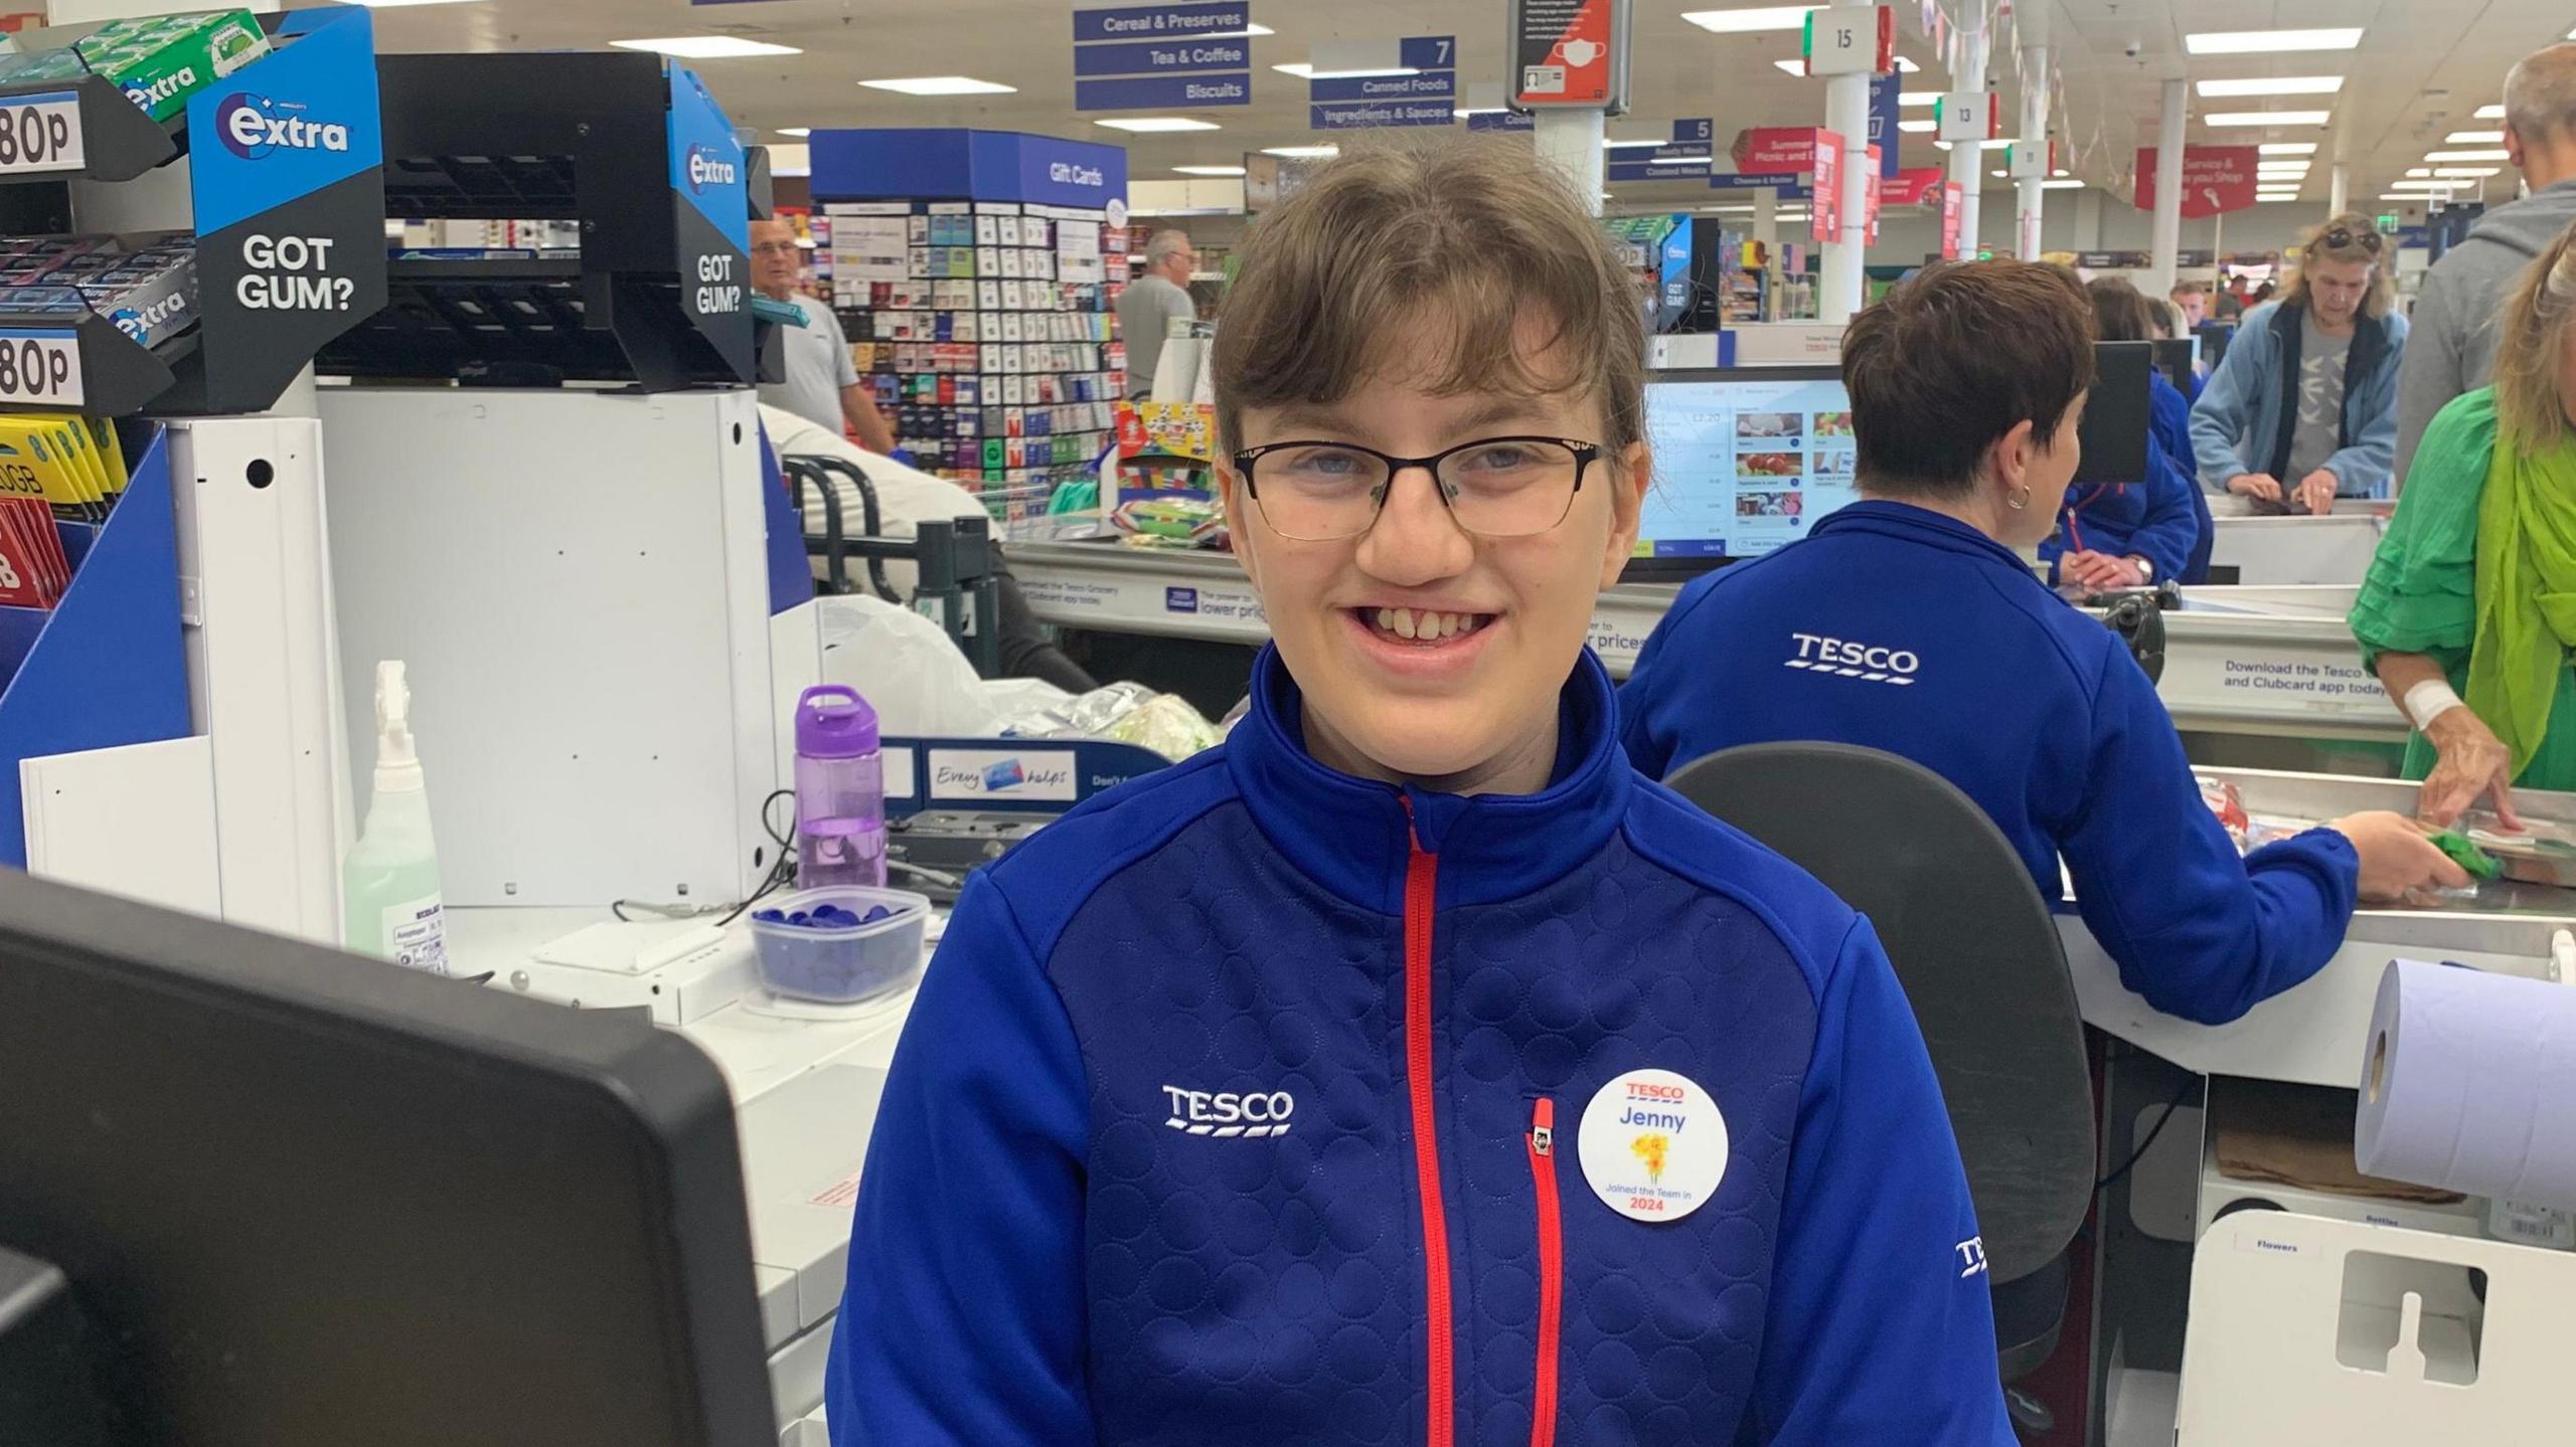
[[[2009,1447],[1870,927],[1638,780],[1589,654],[1538,796],[1332,772],[1301,716],[1265,651],[1221,749],[966,886],[868,1146],[835,1442]],[[1674,1220],[1571,1148],[1636,1069],[1726,1125]]]

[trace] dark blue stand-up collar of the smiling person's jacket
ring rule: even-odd
[[[1262,834],[1334,896],[1401,914],[1412,842],[1440,857],[1440,904],[1525,896],[1597,855],[1633,785],[1618,744],[1610,672],[1584,649],[1561,695],[1556,780],[1540,793],[1401,790],[1329,770],[1306,752],[1303,695],[1275,646],[1252,664],[1252,711],[1226,767]]]

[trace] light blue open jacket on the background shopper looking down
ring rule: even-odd
[[[2303,309],[2267,301],[2246,312],[2218,360],[2200,402],[2192,404],[2192,461],[2200,487],[2226,492],[2228,479],[2290,466],[2298,430],[2298,358],[2306,345]],[[2344,417],[2339,451],[2326,458],[2336,497],[2391,497],[2388,474],[2398,451],[2398,360],[2406,355],[2406,317],[2362,317],[2344,353]]]

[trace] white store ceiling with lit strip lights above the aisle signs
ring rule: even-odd
[[[1141,3],[1141,0],[1113,0]],[[1126,136],[1072,108],[1072,21],[1066,0],[752,0],[690,5],[688,0],[471,0],[407,5],[376,13],[386,51],[456,49],[595,49],[611,39],[742,33],[801,46],[804,54],[696,62],[739,124],[778,126],[997,126],[1126,144],[1136,178],[1172,175],[1172,165],[1224,165],[1244,152],[1309,144],[1306,82],[1270,64],[1306,59],[1332,39],[1458,36],[1461,85],[1502,80],[1502,0],[1249,0],[1252,18],[1275,36],[1252,41],[1252,106],[1195,111],[1218,131]],[[1734,8],[1744,0],[1636,0],[1633,113],[1610,121],[1610,136],[1662,136],[1677,116],[1713,116],[1718,139],[1744,126],[1795,126],[1824,118],[1824,85],[1783,75],[1775,59],[1798,54],[1798,33],[1718,36],[1680,18],[1682,10]],[[1968,0],[1942,0],[1953,13]],[[2192,142],[2318,142],[2303,201],[2324,206],[2331,160],[2352,165],[2352,198],[2375,203],[2388,180],[2424,165],[2478,106],[2501,95],[2504,70],[2568,31],[2566,0],[2038,0],[2050,5],[2061,116],[2061,154],[2094,185],[2128,196],[2138,144],[2154,144],[2159,82],[2169,75],[2269,77],[2344,75],[2324,98],[2200,100],[2200,111],[2331,108],[2326,129],[2210,129],[2192,121]],[[2025,5],[2027,8],[2027,5]],[[1899,33],[1911,31],[1914,5],[1899,5]],[[2190,31],[2293,26],[2365,26],[2357,51],[2285,57],[2184,57]],[[2138,54],[2125,54],[2136,46]],[[1919,39],[1899,51],[1922,64],[1909,90],[1945,85],[1940,57]],[[860,90],[858,80],[907,75],[971,75],[1018,85],[1015,95],[907,98]],[[2007,98],[2007,131],[2020,116],[2012,57],[1996,57]],[[1909,111],[1929,116],[1929,111]],[[768,134],[765,139],[778,139]],[[1904,136],[1904,165],[1942,160],[1929,136]],[[2481,162],[2483,165],[2483,162]],[[2499,162],[2501,165],[2501,162]],[[1991,167],[1989,167],[1991,170]],[[1989,183],[2002,185],[2002,183]],[[2491,198],[2512,196],[2512,173],[2488,183]],[[1615,185],[1620,201],[1708,201],[1703,185]]]

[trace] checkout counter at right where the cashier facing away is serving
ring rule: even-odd
[[[2396,780],[2195,772],[2233,785],[2257,824],[2300,826],[2362,808],[2414,806],[2414,785]],[[2421,1295],[2424,1321],[2432,1323],[2427,1352],[2434,1352],[2445,1323],[2458,1323],[2460,1339],[2483,1334],[2476,1352],[2483,1357],[2483,1406],[2499,1414],[2496,1421],[2532,1432],[2488,1439],[2537,1442],[2545,1437],[2540,1424],[2558,1421],[2566,1393],[2540,1362],[2563,1352],[2532,1339],[2530,1305],[2545,1305],[2563,1321],[2576,1293],[2576,1259],[2486,1238],[2478,1200],[2388,1195],[2352,1190],[2352,1182],[2339,1190],[2316,1179],[2352,1174],[2349,1092],[2362,1081],[2370,1014],[2391,958],[2576,986],[2576,888],[2568,888],[2576,883],[2576,796],[2517,790],[2517,806],[2535,837],[2561,839],[2506,860],[2514,875],[2527,878],[2481,883],[2416,909],[2362,909],[2326,968],[2231,1025],[2159,1014],[2120,986],[2117,966],[2084,922],[2061,917],[2084,1020],[2133,1045],[2115,1045],[2102,1074],[2110,1184],[2097,1213],[2099,1269],[2089,1316],[2092,1439],[2174,1442],[2179,1424],[2184,1444],[2239,1442],[2249,1439],[2241,1434],[2249,1401],[2267,1401],[2267,1411],[2308,1411],[2313,1421],[2344,1421],[2352,1393],[2391,1393],[2388,1421],[2439,1419],[2447,1408],[2416,1393],[2458,1390],[2447,1385],[2458,1375],[2445,1375],[2450,1367],[2442,1362],[2424,1383],[2349,1370],[2362,1362],[2357,1341],[2396,1339],[2398,1298],[2409,1290]],[[2476,826],[2481,816],[2465,824]],[[2277,1130],[2269,1123],[2285,1115],[2321,1130],[2306,1138],[2293,1130],[2290,1143],[2277,1146],[2287,1169],[2249,1169],[2244,1141]],[[2267,1125],[2249,1130],[2249,1120]],[[2262,1254],[2306,1254],[2331,1269],[2275,1272],[2254,1264]],[[2339,1264],[2344,1254],[2357,1262],[2352,1274]],[[2486,1272],[2488,1290],[2476,1290],[2460,1267]],[[2488,1311],[2488,1303],[2501,1305]],[[2504,1316],[2506,1308],[2514,1316]],[[2300,1334],[2282,1336],[2280,1316],[2300,1318]],[[2316,1339],[2311,1329],[2321,1321],[2324,1339]],[[2550,1334],[2563,1334],[2563,1326],[2537,1331]],[[2295,1406],[2269,1401],[2280,1396],[2295,1398]]]

